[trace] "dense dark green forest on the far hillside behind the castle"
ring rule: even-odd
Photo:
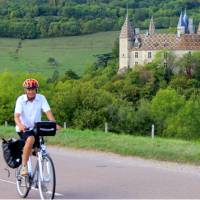
[[[134,27],[147,29],[154,16],[156,28],[177,26],[183,8],[200,21],[196,0],[1,0],[0,37],[39,38],[120,30],[129,4]]]

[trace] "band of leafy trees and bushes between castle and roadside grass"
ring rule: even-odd
[[[67,127],[104,130],[107,122],[109,131],[149,135],[154,124],[159,136],[200,138],[200,53],[176,58],[171,52],[160,52],[152,63],[121,75],[117,70],[118,49],[114,48],[111,54],[99,55],[82,77],[72,70],[55,72],[49,79],[40,74],[1,73],[0,123],[14,123],[22,82],[34,77],[58,123],[66,122]]]

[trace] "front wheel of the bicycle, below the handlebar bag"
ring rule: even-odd
[[[42,169],[39,172],[39,191],[41,199],[53,199],[56,189],[56,176],[53,161],[49,155],[41,160]],[[42,171],[41,171],[42,170]]]

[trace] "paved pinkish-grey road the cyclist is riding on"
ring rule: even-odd
[[[57,199],[200,199],[200,168],[111,153],[49,147]],[[0,152],[0,198],[16,199],[14,171]],[[30,199],[39,192],[31,190]]]

